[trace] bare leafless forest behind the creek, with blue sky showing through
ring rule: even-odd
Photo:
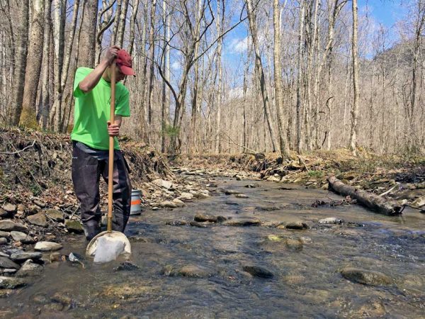
[[[0,123],[69,132],[75,70],[118,45],[123,133],[161,152],[421,154],[425,1],[402,6],[389,28],[356,0],[1,0]]]

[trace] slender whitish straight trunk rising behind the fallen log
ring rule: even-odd
[[[357,52],[357,0],[353,0],[353,38],[351,39],[351,49],[353,55],[353,91],[354,100],[353,108],[351,109],[351,133],[350,133],[350,148],[353,155],[357,155],[357,118],[358,118],[358,52]]]

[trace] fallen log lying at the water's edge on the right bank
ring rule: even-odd
[[[327,181],[329,181],[329,189],[343,196],[350,196],[356,199],[357,203],[373,211],[388,216],[400,215],[402,213],[403,206],[399,205],[396,201],[382,198],[361,189],[356,189],[353,186],[348,186],[334,176],[328,177]]]

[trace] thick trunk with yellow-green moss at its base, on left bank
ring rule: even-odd
[[[28,47],[25,84],[23,87],[22,113],[19,124],[28,128],[37,128],[35,99],[37,99],[38,81],[42,63],[42,41],[44,34],[44,0],[32,1],[32,23],[30,45]]]

